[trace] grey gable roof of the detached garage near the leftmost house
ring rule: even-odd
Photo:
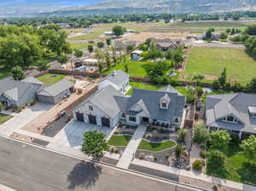
[[[71,89],[74,85],[74,82],[70,81],[69,79],[62,79],[60,82],[50,85],[44,90],[38,92],[38,95],[40,96],[57,96],[61,94],[61,92]]]

